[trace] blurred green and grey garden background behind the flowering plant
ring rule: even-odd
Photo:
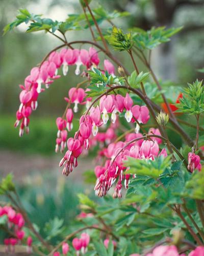
[[[202,79],[202,73],[197,69],[204,67],[204,1],[93,0],[91,5],[103,5],[110,11],[130,12],[130,16],[114,20],[123,29],[183,26],[183,30],[168,44],[154,51],[152,66],[160,79],[174,86],[185,85],[196,78]],[[13,127],[19,105],[18,84],[23,83],[30,69],[47,52],[60,44],[49,34],[24,33],[24,25],[3,36],[4,26],[15,18],[19,8],[27,8],[32,13],[57,20],[64,20],[68,14],[82,10],[77,0],[0,1],[0,176],[13,172],[21,198],[38,225],[54,216],[69,223],[79,212],[76,194],[92,191],[92,187],[84,184],[81,173],[91,169],[93,162],[84,158],[69,178],[61,176],[61,169],[57,166],[62,155],[54,153],[57,133],[55,120],[64,111],[66,102],[63,98],[68,94],[68,89],[80,78],[73,75],[74,68],[70,68],[68,76],[62,77],[41,94],[38,109],[32,114],[30,134],[18,137],[18,131]],[[101,26],[106,28],[107,24]],[[69,41],[74,38],[91,39],[91,35],[87,31],[75,31],[68,33],[67,38]],[[130,71],[133,70],[124,54],[120,59]],[[143,69],[140,63],[139,66]],[[177,137],[175,140],[181,141]],[[43,212],[43,215],[39,212]]]

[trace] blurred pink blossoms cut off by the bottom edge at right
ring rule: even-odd
[[[192,250],[188,256],[202,256],[204,255],[204,246],[198,246]],[[130,256],[140,256],[138,253],[133,253]],[[185,253],[180,254],[175,245],[160,245],[156,247],[151,253],[146,256],[186,256]]]

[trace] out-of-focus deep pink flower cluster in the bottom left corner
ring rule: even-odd
[[[24,239],[25,232],[23,231],[23,226],[25,224],[23,216],[20,214],[20,212],[16,212],[11,206],[0,206],[0,218],[3,216],[7,216],[7,226],[8,229],[14,233],[15,237],[6,238],[4,240],[6,253],[9,251],[14,252],[15,245],[18,243],[21,243],[21,241]],[[27,251],[28,253],[32,252],[32,238],[27,238]]]

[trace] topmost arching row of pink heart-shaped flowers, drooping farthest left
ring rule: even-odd
[[[37,109],[39,93],[45,90],[42,88],[42,84],[45,85],[45,88],[48,88],[55,79],[60,78],[60,75],[58,75],[60,67],[62,67],[63,74],[66,75],[68,66],[76,65],[75,74],[79,75],[81,65],[84,65],[86,69],[91,69],[97,67],[99,61],[98,54],[92,47],[89,51],[85,49],[62,49],[60,52],[52,52],[48,60],[45,60],[40,67],[34,67],[30,75],[25,78],[24,86],[19,85],[22,91],[19,95],[20,106],[16,112],[16,122],[14,124],[17,127],[20,123],[19,136],[23,135],[24,130],[29,133],[29,116],[32,111]],[[114,66],[109,60],[104,61],[104,66],[104,69],[108,72],[114,72]]]

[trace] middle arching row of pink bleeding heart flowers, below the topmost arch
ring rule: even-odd
[[[68,151],[65,153],[65,156],[60,161],[59,166],[65,164],[63,169],[63,174],[68,176],[72,172],[73,167],[77,166],[77,158],[82,154],[83,146],[87,150],[89,147],[90,136],[97,135],[98,127],[106,124],[109,120],[109,113],[111,114],[111,121],[114,124],[117,119],[117,113],[122,113],[125,110],[125,118],[127,122],[137,122],[146,123],[149,120],[149,111],[146,106],[133,106],[133,100],[129,94],[126,94],[125,97],[121,95],[104,95],[100,98],[99,106],[95,108],[92,106],[90,108],[89,114],[86,112],[80,119],[79,131],[75,133],[74,138],[69,138],[67,140]],[[102,115],[102,120],[100,116]],[[63,119],[60,120],[58,125],[58,134],[63,132],[63,129],[66,127],[66,121]],[[58,121],[59,122],[59,121]],[[137,124],[138,124],[137,123]],[[138,126],[136,125],[136,132],[139,132]],[[62,134],[63,135],[63,134]],[[60,139],[62,140],[62,135]],[[63,140],[65,138],[63,137]],[[61,148],[65,147],[61,142]],[[56,148],[58,148],[56,145]]]

